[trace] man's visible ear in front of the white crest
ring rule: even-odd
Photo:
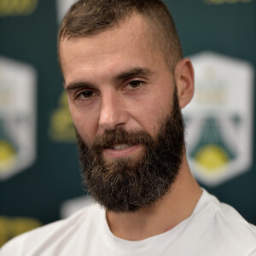
[[[194,95],[194,69],[188,58],[178,61],[174,70],[174,79],[177,84],[179,107],[184,108]]]

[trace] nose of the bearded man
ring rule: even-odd
[[[125,125],[127,113],[119,93],[117,91],[108,92],[108,95],[102,95],[101,101],[99,126],[103,130],[114,130],[118,126]]]

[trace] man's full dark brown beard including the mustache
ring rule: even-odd
[[[183,118],[177,92],[171,113],[160,121],[155,138],[146,131],[105,131],[89,148],[78,136],[84,183],[90,195],[108,211],[136,212],[158,201],[171,189],[183,160]],[[143,155],[106,162],[103,148],[113,143],[142,144]]]

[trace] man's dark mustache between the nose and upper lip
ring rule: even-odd
[[[91,149],[112,148],[115,144],[144,144],[152,143],[153,138],[147,131],[125,131],[123,128],[104,131],[102,136],[96,137]]]

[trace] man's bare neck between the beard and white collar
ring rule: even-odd
[[[114,236],[131,241],[160,235],[189,218],[201,193],[184,156],[176,182],[166,195],[137,212],[107,212],[109,228]]]

